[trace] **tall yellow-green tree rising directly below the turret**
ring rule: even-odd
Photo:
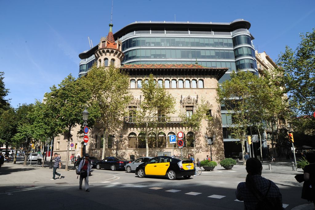
[[[93,65],[84,78],[86,87],[91,92],[89,111],[92,119],[103,127],[102,159],[106,152],[106,135],[123,123],[131,94],[129,92],[129,75],[122,70]]]

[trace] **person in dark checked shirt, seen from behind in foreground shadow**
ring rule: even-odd
[[[272,181],[261,177],[262,165],[259,159],[246,161],[246,182],[238,184],[235,195],[244,201],[244,209],[284,209],[279,188]]]

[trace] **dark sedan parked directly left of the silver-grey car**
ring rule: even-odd
[[[116,171],[116,169],[125,170],[127,163],[130,163],[130,161],[121,157],[107,157],[96,163],[96,169],[105,168],[111,169],[112,171]]]

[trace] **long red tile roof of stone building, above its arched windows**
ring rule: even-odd
[[[204,67],[198,64],[123,64],[122,69],[226,69]]]

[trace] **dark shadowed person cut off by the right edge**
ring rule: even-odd
[[[301,198],[313,201],[315,207],[315,154],[307,153],[306,159],[310,164],[304,167],[304,183]]]

